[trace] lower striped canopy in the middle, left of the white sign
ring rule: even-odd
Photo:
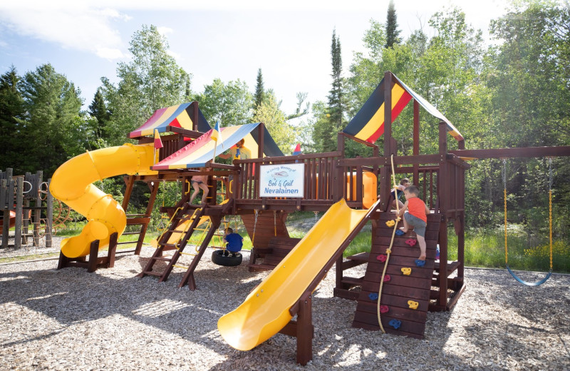
[[[241,126],[227,126],[220,128],[222,133],[218,141],[212,139],[213,130],[190,142],[179,151],[172,153],[164,160],[152,166],[152,170],[200,168],[214,157],[214,147],[216,155],[229,150],[237,142],[244,138],[244,147],[252,152],[252,158],[257,158],[259,131],[254,130],[259,123],[247,123]],[[264,156],[283,156],[273,138],[264,126]]]

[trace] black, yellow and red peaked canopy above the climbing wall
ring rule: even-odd
[[[392,122],[400,115],[411,99],[414,98],[430,115],[447,123],[447,132],[453,138],[457,139],[457,141],[463,140],[463,136],[457,131],[457,128],[440,111],[437,111],[437,108],[406,86],[394,74],[392,76],[395,78],[392,86]],[[374,143],[382,136],[384,133],[384,79],[376,86],[372,95],[344,128],[343,132],[370,143]]]

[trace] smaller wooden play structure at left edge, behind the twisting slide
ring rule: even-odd
[[[13,176],[12,172],[11,168],[0,171],[2,248],[8,247],[11,228],[14,228],[14,248],[27,245],[28,238],[33,246],[38,246],[42,237],[46,238],[46,248],[51,248],[53,196],[48,192],[50,180],[42,182],[42,171],[24,176]],[[43,217],[42,213],[45,213]]]

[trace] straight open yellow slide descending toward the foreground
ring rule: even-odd
[[[224,340],[237,350],[250,350],[285,327],[292,318],[289,308],[367,213],[349,208],[345,200],[332,205],[244,303],[218,320]]]

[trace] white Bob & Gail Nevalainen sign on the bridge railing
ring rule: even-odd
[[[305,164],[262,165],[259,171],[260,197],[303,197]]]

